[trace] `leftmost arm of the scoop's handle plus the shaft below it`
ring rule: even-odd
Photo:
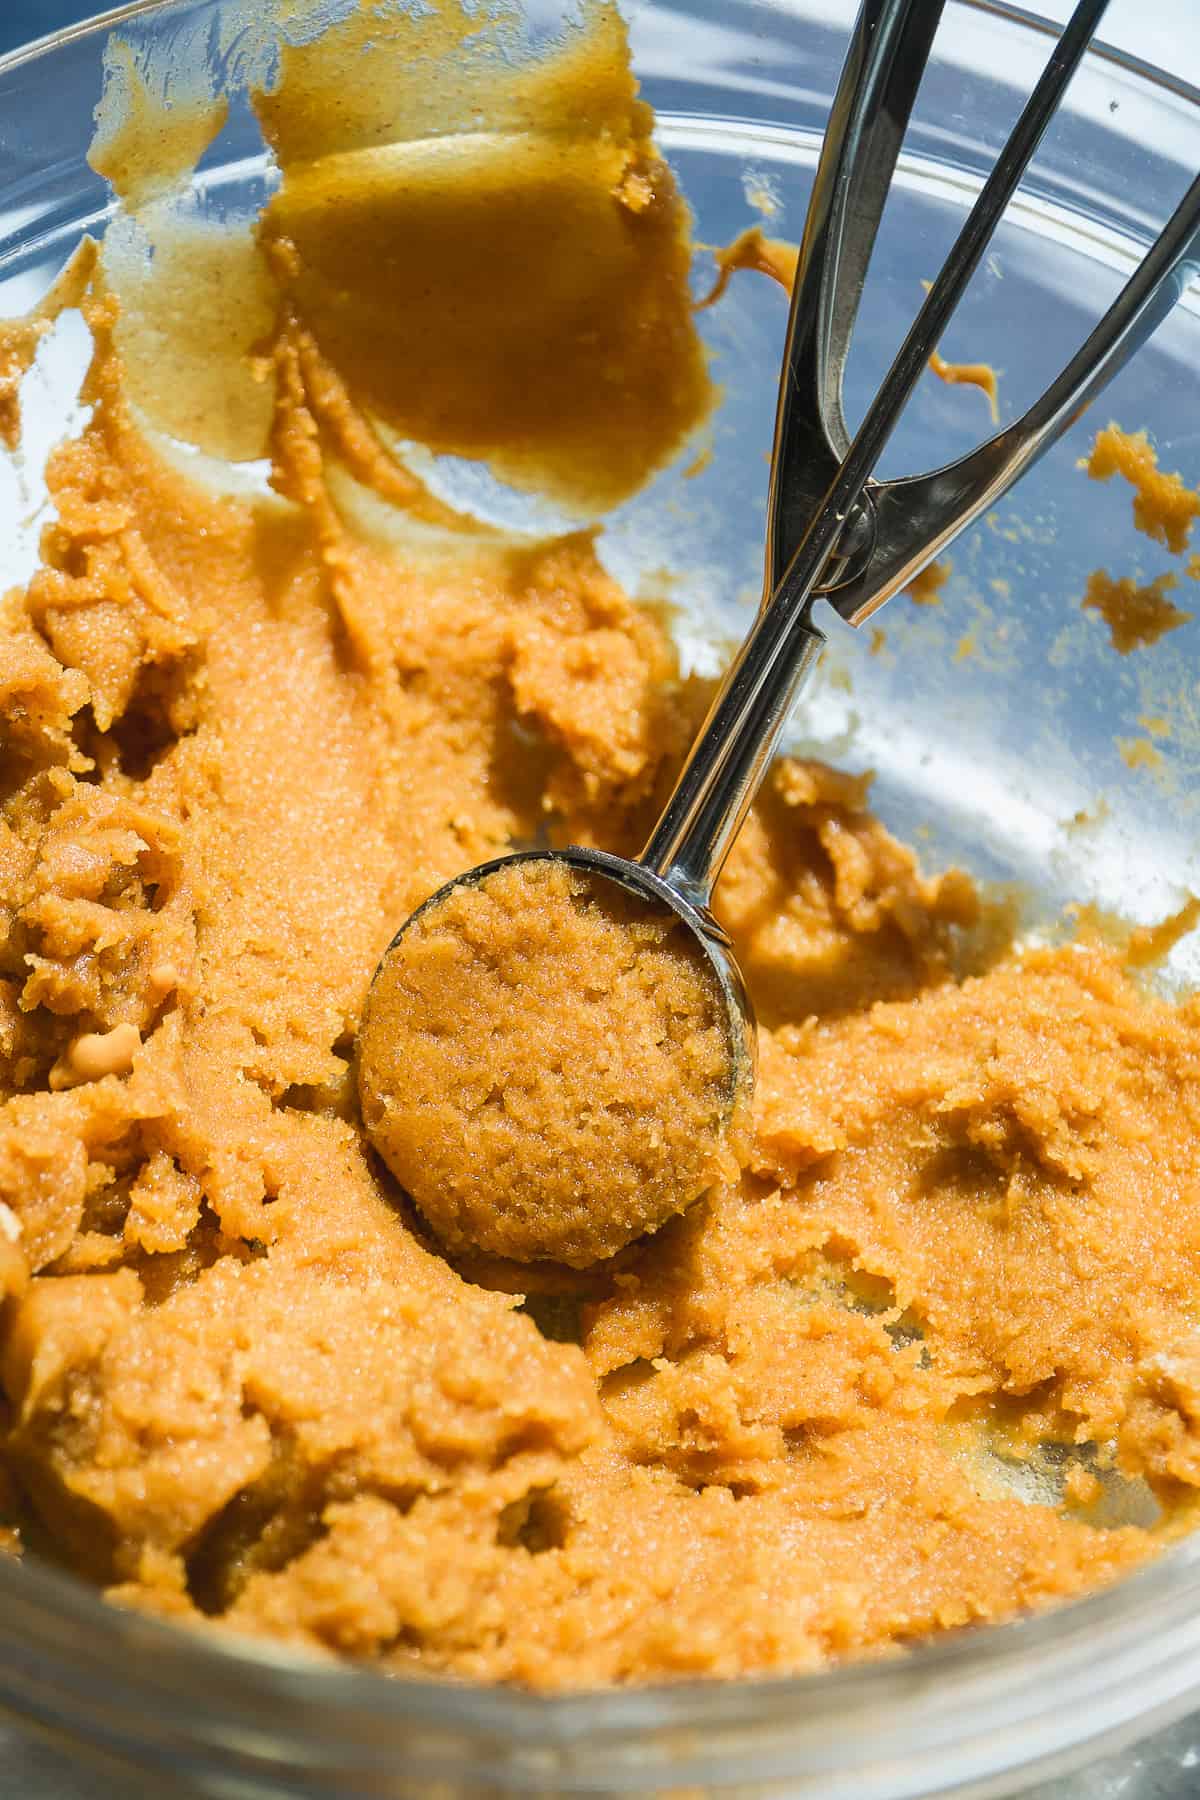
[[[945,0],[862,0],[804,223],[779,382],[765,603],[640,862],[705,909],[824,637],[808,612],[874,446],[851,466],[842,364]],[[835,279],[829,281],[828,277]],[[783,571],[783,578],[781,578]]]

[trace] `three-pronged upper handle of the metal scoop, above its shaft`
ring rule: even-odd
[[[766,589],[822,594],[862,625],[1090,405],[1200,265],[1200,176],[1063,373],[1004,432],[927,475],[871,482],[896,419],[979,266],[1108,0],[1079,0],[930,284],[855,441],[842,380],[896,157],[945,0],[865,0],[817,167],[792,295],[768,502]],[[815,574],[813,574],[815,567]],[[772,598],[774,605],[774,598]]]

